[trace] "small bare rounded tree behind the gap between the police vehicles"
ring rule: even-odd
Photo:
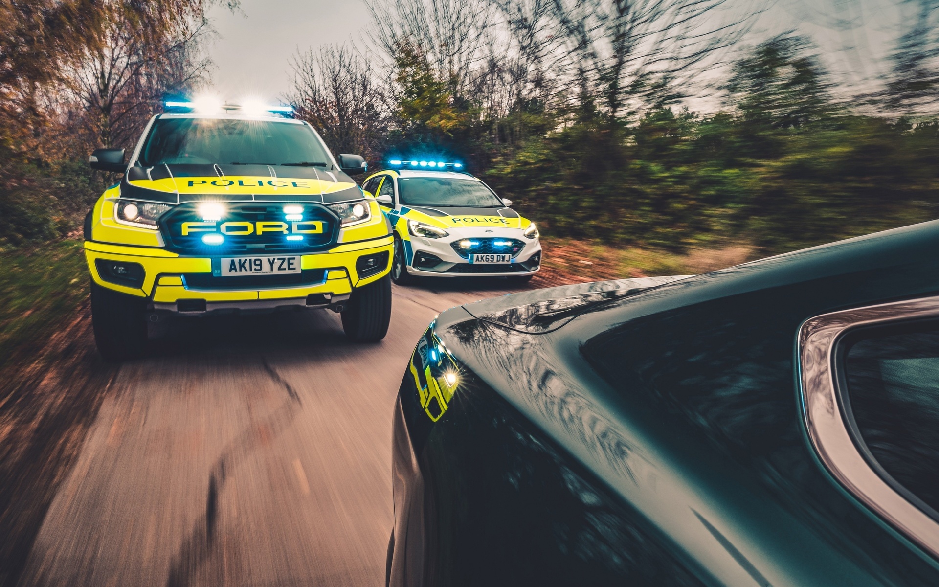
[[[375,162],[391,127],[393,92],[392,82],[373,69],[373,58],[346,46],[297,54],[286,100],[331,148]]]

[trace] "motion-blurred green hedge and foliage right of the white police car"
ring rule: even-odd
[[[832,99],[808,51],[793,36],[755,47],[716,114],[659,105],[611,116],[587,96],[553,108],[519,100],[494,119],[460,116],[410,48],[399,52],[400,143],[465,157],[553,237],[673,251],[746,242],[772,254],[934,218],[939,122],[856,114]]]

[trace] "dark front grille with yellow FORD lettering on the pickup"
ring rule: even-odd
[[[222,219],[211,222],[199,214],[198,202],[180,204],[161,217],[160,229],[168,249],[188,255],[306,253],[330,247],[339,224],[331,211],[318,204],[290,205],[302,208],[299,220],[287,218],[283,203],[225,202]],[[182,234],[184,228],[189,234]],[[206,244],[202,238],[207,235],[221,236],[223,242]]]

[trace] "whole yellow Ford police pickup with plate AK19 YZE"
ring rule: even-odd
[[[168,315],[329,308],[352,340],[382,338],[393,237],[349,178],[362,157],[334,158],[285,107],[168,105],[127,162],[123,149],[89,159],[123,174],[85,219],[101,354],[139,355],[146,322]]]

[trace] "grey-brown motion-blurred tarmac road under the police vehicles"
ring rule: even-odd
[[[150,356],[121,365],[21,584],[383,585],[408,356],[439,312],[507,287],[395,286],[377,345],[346,342],[325,310],[156,325]]]

